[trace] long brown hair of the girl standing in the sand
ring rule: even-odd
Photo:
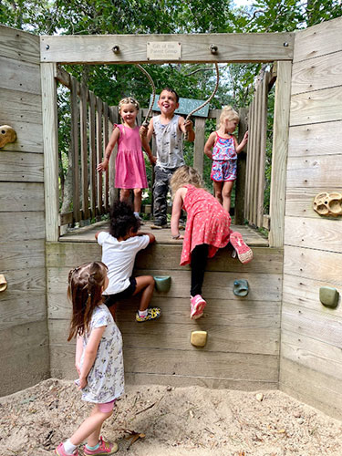
[[[102,302],[106,264],[100,261],[82,264],[68,275],[67,297],[72,303],[72,317],[67,341],[88,332],[94,308]]]

